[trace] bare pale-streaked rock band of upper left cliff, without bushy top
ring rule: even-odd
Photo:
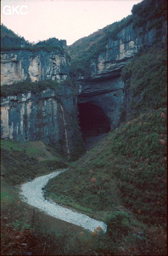
[[[13,84],[28,80],[63,81],[69,75],[65,54],[31,50],[4,51],[1,54],[1,83]]]

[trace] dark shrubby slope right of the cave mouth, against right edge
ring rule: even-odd
[[[154,44],[137,54],[122,70],[127,119],[148,109],[165,108],[167,101],[167,47]],[[124,114],[123,113],[123,114]]]

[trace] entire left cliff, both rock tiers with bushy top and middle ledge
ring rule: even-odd
[[[76,157],[82,151],[82,140],[65,41],[51,38],[31,45],[4,30],[1,137],[19,142],[42,140]]]

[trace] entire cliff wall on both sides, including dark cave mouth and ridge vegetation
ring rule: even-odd
[[[83,151],[83,139],[120,125],[130,101],[123,67],[166,38],[164,16],[139,25],[135,8],[132,13],[71,46],[56,38],[32,45],[2,27],[1,137],[42,140],[75,155]],[[19,91],[9,89],[17,83]]]

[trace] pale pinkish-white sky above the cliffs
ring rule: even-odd
[[[58,38],[70,45],[131,15],[133,5],[140,2],[142,0],[1,0],[1,23],[31,43]]]

